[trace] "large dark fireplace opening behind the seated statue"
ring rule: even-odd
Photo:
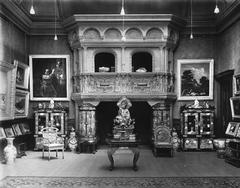
[[[150,145],[152,139],[152,108],[144,101],[132,102],[129,109],[135,119],[134,133],[141,144]],[[113,120],[118,114],[117,102],[100,102],[96,107],[96,136],[98,144],[106,144],[106,138],[112,136]]]

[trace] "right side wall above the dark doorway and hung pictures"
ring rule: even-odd
[[[240,20],[217,37],[216,73],[235,69],[240,74]]]

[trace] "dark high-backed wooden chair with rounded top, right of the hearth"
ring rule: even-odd
[[[153,154],[158,156],[161,150],[169,150],[170,156],[173,157],[173,142],[171,130],[169,127],[161,125],[154,130]]]

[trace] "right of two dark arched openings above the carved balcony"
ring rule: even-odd
[[[137,52],[132,56],[133,72],[152,72],[152,55],[148,52]]]

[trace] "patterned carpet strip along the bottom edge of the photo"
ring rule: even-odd
[[[237,188],[240,177],[31,177],[8,176],[1,188]]]

